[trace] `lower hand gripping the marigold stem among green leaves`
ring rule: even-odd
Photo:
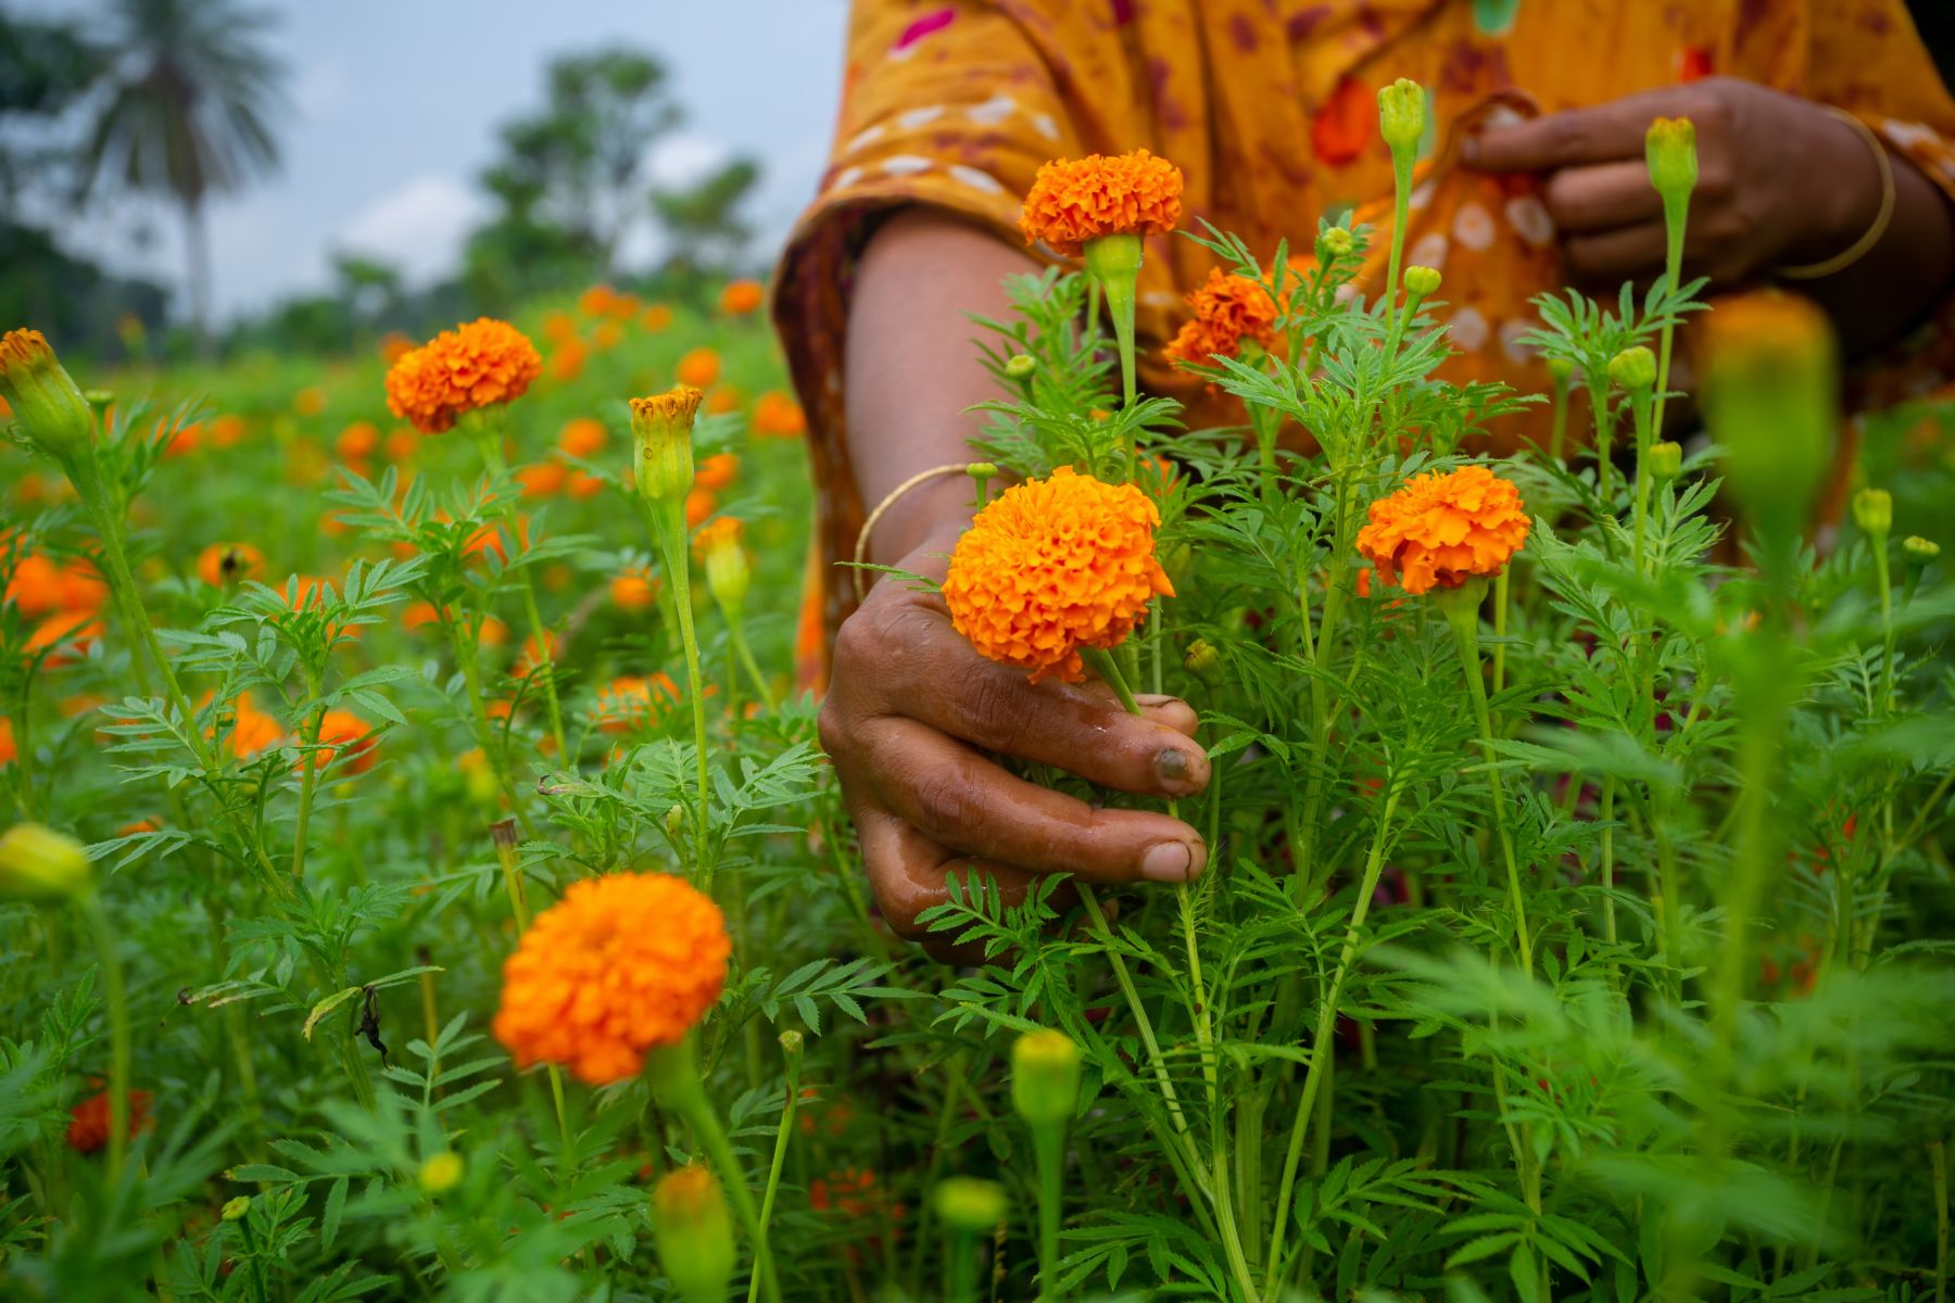
[[[942,578],[946,525],[899,568]],[[1089,883],[1181,883],[1208,865],[1189,824],[1097,809],[1005,772],[993,754],[1058,766],[1103,787],[1189,797],[1208,783],[1195,711],[1142,697],[1128,715],[1103,686],[1044,682],[985,660],[950,627],[934,592],[884,576],[835,639],[821,744],[862,838],[890,926],[925,940],[917,914],[946,901],[944,873],[981,867],[1007,901],[1042,873]],[[938,957],[948,946],[931,946]]]

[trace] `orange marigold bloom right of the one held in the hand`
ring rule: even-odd
[[[1406,592],[1498,574],[1527,541],[1521,490],[1480,465],[1433,471],[1370,504],[1357,549]]]

